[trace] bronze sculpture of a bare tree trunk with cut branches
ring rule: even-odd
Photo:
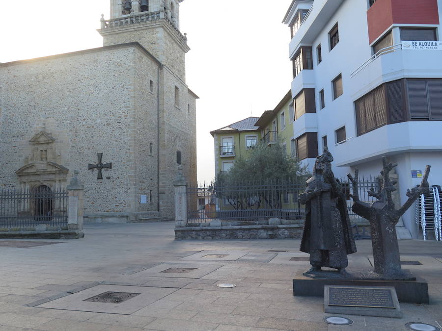
[[[380,187],[378,191],[375,191],[372,187],[368,192],[369,196],[377,199],[377,201],[372,204],[367,204],[359,200],[358,168],[355,169],[354,178],[350,174],[347,174],[347,177],[353,184],[352,210],[370,222],[374,272],[387,279],[410,279],[411,275],[408,275],[401,269],[396,224],[414,201],[421,194],[428,192],[427,179],[430,173],[430,166],[426,166],[420,185],[407,191],[408,200],[405,204],[399,209],[396,209],[391,198],[391,192],[396,190],[394,187],[396,181],[390,181],[388,175],[397,164],[387,162],[385,156],[382,158],[382,163],[384,169],[381,171],[382,178],[380,180]]]

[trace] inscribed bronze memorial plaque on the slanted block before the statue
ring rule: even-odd
[[[376,287],[330,286],[329,305],[395,308],[391,290]]]

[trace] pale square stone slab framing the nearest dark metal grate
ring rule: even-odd
[[[81,292],[39,305],[38,307],[113,314],[132,314],[176,290],[177,289],[173,288],[158,287],[97,285]],[[104,292],[139,293],[139,295],[118,304],[84,301]]]

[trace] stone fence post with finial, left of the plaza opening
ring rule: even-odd
[[[78,170],[67,185],[68,189],[68,229],[83,230],[83,184],[78,179]]]

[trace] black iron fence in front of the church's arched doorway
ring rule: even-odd
[[[0,228],[38,225],[63,227],[68,223],[68,192],[40,186],[33,191],[0,191]]]

